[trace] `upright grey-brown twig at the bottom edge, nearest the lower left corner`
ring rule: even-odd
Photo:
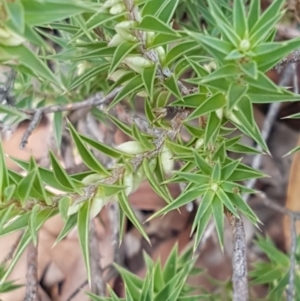
[[[27,247],[26,294],[24,301],[38,301],[37,247],[30,242]]]

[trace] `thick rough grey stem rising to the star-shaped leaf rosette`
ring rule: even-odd
[[[248,269],[246,255],[246,240],[243,221],[230,212],[226,212],[229,223],[232,227],[233,235],[233,254],[232,254],[232,284],[233,301],[249,300],[248,290]]]

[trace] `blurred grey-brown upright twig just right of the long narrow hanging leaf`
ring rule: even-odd
[[[106,286],[100,266],[99,240],[94,221],[90,222],[90,260],[91,260],[91,290],[97,296],[105,296]]]

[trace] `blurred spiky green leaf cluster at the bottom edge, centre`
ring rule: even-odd
[[[154,263],[152,259],[144,253],[147,266],[147,275],[144,279],[137,277],[135,274],[128,272],[120,266],[116,266],[116,269],[125,283],[125,300],[207,300],[207,295],[193,293],[195,288],[185,283],[189,275],[197,275],[202,272],[202,270],[193,268],[194,261],[191,260],[191,255],[191,251],[188,251],[179,257],[177,248],[173,248],[167,262],[164,267],[162,267],[160,261]],[[110,298],[101,298],[89,294],[94,301],[124,300],[118,298],[112,290],[110,290],[110,295]]]

